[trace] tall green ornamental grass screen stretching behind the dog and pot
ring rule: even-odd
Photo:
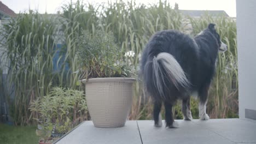
[[[209,92],[207,111],[211,118],[237,117],[237,46],[236,22],[225,16],[205,15],[200,18],[186,17],[170,7],[168,2],[151,5],[136,2],[108,2],[92,5],[69,3],[60,8],[60,14],[19,14],[4,25],[4,40],[10,60],[9,80],[15,87],[15,98],[11,105],[16,124],[31,123],[28,110],[30,101],[43,97],[50,86],[81,89],[75,44],[75,35],[87,31],[93,37],[96,31],[113,33],[115,42],[123,55],[134,51],[129,62],[139,70],[141,52],[149,38],[163,29],[177,29],[185,32],[190,24],[190,35],[202,31],[208,23],[216,23],[222,41],[228,51],[220,53],[216,76]],[[186,31],[187,33],[187,31]],[[56,44],[61,43],[61,49]],[[59,70],[53,73],[53,57],[59,53]],[[125,58],[125,57],[124,57]],[[51,85],[49,85],[51,83]],[[191,101],[193,116],[197,118],[198,100]],[[182,118],[179,103],[175,107],[176,118]],[[141,81],[135,84],[130,119],[151,119],[152,104],[143,91]]]

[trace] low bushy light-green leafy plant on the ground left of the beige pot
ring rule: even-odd
[[[87,110],[87,106],[82,91],[54,87],[44,97],[33,101],[30,110],[36,113],[37,117],[34,119],[39,123],[36,133],[47,140],[53,129],[59,134],[71,130]]]

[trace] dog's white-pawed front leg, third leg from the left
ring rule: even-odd
[[[182,100],[182,113],[185,121],[191,121],[193,119],[190,110],[190,96]]]

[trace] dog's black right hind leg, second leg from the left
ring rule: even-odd
[[[165,102],[165,123],[167,128],[177,128],[178,124],[174,123],[172,114],[172,104]]]

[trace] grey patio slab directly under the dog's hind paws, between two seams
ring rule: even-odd
[[[179,128],[153,127],[153,121],[138,121],[143,144],[149,143],[226,143],[232,142],[191,121],[176,120]],[[164,121],[163,121],[164,124]]]

